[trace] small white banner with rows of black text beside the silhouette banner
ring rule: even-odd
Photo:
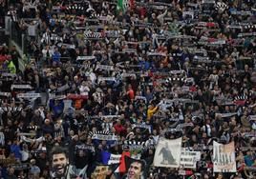
[[[191,151],[189,149],[181,149],[181,167],[184,169],[196,169],[197,162],[201,160],[200,151]]]

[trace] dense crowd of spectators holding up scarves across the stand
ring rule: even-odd
[[[255,15],[253,0],[0,0],[0,26],[27,41],[23,56],[0,47],[0,177],[50,178],[61,146],[90,178],[102,151],[136,141],[149,178],[255,178]],[[153,167],[160,136],[202,151],[201,174]],[[235,142],[237,173],[213,172],[213,141]]]

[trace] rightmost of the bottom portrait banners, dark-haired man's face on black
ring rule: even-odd
[[[126,172],[122,179],[146,179],[148,167],[144,160],[136,160],[134,158],[125,156]]]

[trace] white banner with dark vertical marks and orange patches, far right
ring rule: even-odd
[[[237,172],[234,142],[223,145],[213,141],[213,171]]]

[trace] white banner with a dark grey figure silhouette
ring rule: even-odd
[[[175,140],[160,138],[153,165],[162,168],[179,168],[180,161],[181,138]]]

